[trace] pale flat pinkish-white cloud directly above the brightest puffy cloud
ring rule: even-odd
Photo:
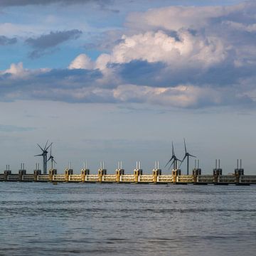
[[[236,11],[242,11],[245,4],[235,6],[169,6],[151,9],[144,13],[130,14],[127,26],[136,30],[165,29],[177,31],[180,28],[205,28],[211,18],[220,18]]]

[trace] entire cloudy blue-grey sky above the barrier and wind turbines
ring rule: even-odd
[[[1,0],[0,172],[49,140],[60,174],[169,174],[186,138],[203,174],[256,174],[255,40],[255,1]]]

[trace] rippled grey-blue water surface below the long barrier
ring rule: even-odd
[[[0,183],[0,255],[256,255],[256,186]]]

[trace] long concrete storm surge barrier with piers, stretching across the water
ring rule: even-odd
[[[152,174],[143,174],[140,168],[134,169],[133,174],[124,174],[124,169],[117,169],[114,174],[107,174],[106,169],[99,169],[97,174],[90,174],[89,169],[82,169],[80,174],[73,174],[73,169],[65,169],[64,174],[57,174],[56,169],[50,169],[48,174],[41,174],[41,170],[26,174],[25,169],[12,174],[8,169],[0,174],[0,181],[252,185],[256,184],[256,175],[245,175],[243,169],[235,169],[234,174],[228,175],[223,175],[222,169],[213,169],[213,175],[202,175],[201,169],[193,169],[192,175],[183,175],[180,169],[173,169],[170,175],[162,175],[161,169],[153,169]]]

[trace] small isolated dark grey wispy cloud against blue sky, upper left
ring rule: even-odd
[[[40,55],[47,53],[46,50],[53,49],[55,46],[58,46],[65,41],[77,39],[81,34],[82,31],[79,31],[78,29],[70,31],[52,31],[49,34],[39,36],[38,38],[28,38],[26,39],[26,43],[36,49],[30,54],[31,58],[37,58]]]

